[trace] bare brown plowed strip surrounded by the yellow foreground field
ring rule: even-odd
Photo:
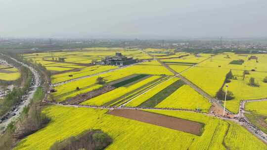
[[[194,135],[200,135],[203,124],[199,122],[189,121],[176,117],[166,116],[162,114],[145,112],[132,109],[115,109],[109,112],[109,114],[133,119],[145,123],[150,123],[174,130],[179,130]]]

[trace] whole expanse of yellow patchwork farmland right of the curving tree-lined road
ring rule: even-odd
[[[119,53],[135,62],[103,61]],[[50,75],[51,121],[14,150],[49,150],[90,129],[112,138],[107,150],[267,150],[265,54],[93,47],[22,58]]]

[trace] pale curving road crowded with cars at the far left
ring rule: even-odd
[[[4,54],[0,54],[4,55]],[[5,57],[9,57],[4,55]],[[9,57],[11,58],[11,57]],[[6,128],[6,126],[13,120],[16,120],[19,117],[19,114],[23,111],[25,106],[28,106],[31,102],[31,99],[34,96],[37,87],[40,86],[40,75],[39,73],[31,66],[17,61],[14,58],[11,58],[15,62],[21,64],[24,67],[27,67],[32,72],[32,82],[29,89],[24,93],[24,95],[19,99],[19,101],[7,112],[4,116],[0,117],[0,128]]]

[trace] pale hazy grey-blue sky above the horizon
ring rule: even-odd
[[[1,37],[267,37],[267,0],[0,0]]]

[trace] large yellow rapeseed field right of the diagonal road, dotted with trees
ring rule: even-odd
[[[266,83],[263,83],[263,78],[267,76],[262,72],[250,72],[251,75],[246,75],[245,80],[242,80],[244,70],[251,71],[267,71],[267,55],[255,55],[258,57],[256,60],[248,60],[252,55],[238,55],[234,53],[224,53],[213,56],[211,59],[206,60],[183,73],[186,78],[203,89],[205,92],[215,97],[216,92],[223,85],[225,75],[229,70],[232,70],[233,75],[237,80],[232,79],[228,90],[233,92],[235,99],[227,101],[226,107],[231,112],[237,113],[239,108],[239,101],[246,99],[260,99],[267,97]],[[244,60],[242,65],[229,64],[233,60]],[[250,77],[254,77],[260,84],[260,87],[251,87],[248,85]]]

